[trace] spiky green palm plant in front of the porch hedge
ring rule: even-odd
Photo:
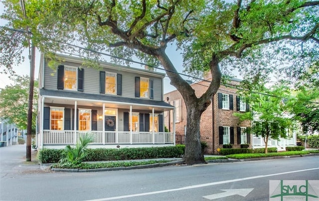
[[[74,147],[65,146],[65,157],[60,162],[81,163],[87,157],[87,147],[92,143],[94,137],[90,134],[85,134],[80,137]]]

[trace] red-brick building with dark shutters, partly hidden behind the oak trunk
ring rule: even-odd
[[[210,73],[208,73],[210,75]],[[211,76],[206,76],[205,80],[211,81]],[[212,98],[212,103],[203,112],[200,120],[200,140],[207,143],[205,154],[218,154],[217,149],[223,148],[223,144],[232,144],[233,148],[240,148],[241,144],[249,144],[251,148],[251,134],[248,131],[251,127],[250,121],[239,123],[238,117],[233,114],[249,110],[244,98],[236,94],[241,80],[233,78],[228,83],[221,85],[217,93]],[[201,96],[210,83],[200,81],[190,86],[195,90],[197,97]],[[176,143],[178,136],[185,135],[186,131],[186,107],[180,93],[175,90],[164,94],[164,99],[169,104],[175,106],[176,111]],[[168,130],[172,130],[172,112],[164,113],[164,124]],[[169,123],[168,123],[169,122]],[[248,133],[248,134],[247,134]]]

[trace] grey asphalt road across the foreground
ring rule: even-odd
[[[1,201],[268,201],[270,180],[319,181],[319,156],[90,173],[48,172],[20,160],[6,171],[0,163]],[[319,195],[319,185],[313,189]]]

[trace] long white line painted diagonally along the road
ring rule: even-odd
[[[296,171],[276,173],[276,174],[270,174],[270,175],[258,175],[258,176],[254,176],[254,177],[246,177],[246,178],[239,178],[239,179],[234,179],[234,180],[226,180],[226,181],[220,181],[220,182],[212,182],[212,183],[207,183],[207,184],[187,186],[187,187],[182,187],[182,188],[178,188],[178,189],[168,189],[168,190],[154,191],[154,192],[148,192],[148,193],[142,193],[142,194],[132,194],[132,195],[126,195],[126,196],[111,197],[111,198],[101,198],[101,199],[89,200],[89,201],[110,201],[110,200],[123,199],[123,198],[132,198],[132,197],[138,197],[138,196],[162,194],[162,193],[173,192],[173,191],[183,191],[183,190],[187,190],[187,189],[195,189],[195,188],[208,187],[208,186],[214,186],[214,185],[219,185],[219,184],[227,184],[227,183],[240,182],[240,181],[245,181],[245,180],[253,180],[253,179],[258,179],[258,178],[263,178],[263,177],[272,177],[272,176],[276,176],[276,175],[285,175],[285,174],[299,173],[299,172],[312,171],[312,170],[319,170],[319,168],[296,170]]]

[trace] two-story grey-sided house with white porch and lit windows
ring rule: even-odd
[[[175,145],[174,130],[164,132],[164,74],[100,62],[83,66],[78,57],[58,55],[56,70],[41,55],[38,148],[64,148],[91,133],[91,148]]]

